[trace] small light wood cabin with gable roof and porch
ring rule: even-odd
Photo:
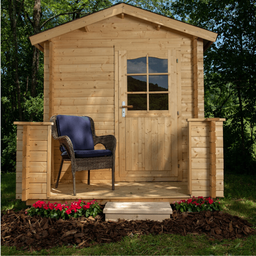
[[[16,198],[168,201],[223,197],[223,121],[204,118],[204,51],[217,34],[119,3],[30,37],[44,52],[44,122],[17,124]],[[133,105],[133,108],[122,108]],[[52,115],[87,115],[117,140],[111,170],[61,162]],[[96,148],[102,148],[97,145]]]

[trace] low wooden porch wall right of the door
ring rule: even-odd
[[[188,193],[191,196],[224,196],[224,120],[188,119]],[[214,125],[215,129],[212,129]],[[212,134],[213,130],[215,134]]]

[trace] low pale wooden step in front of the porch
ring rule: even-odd
[[[170,218],[172,207],[168,202],[107,202],[104,207],[106,221],[152,220]]]

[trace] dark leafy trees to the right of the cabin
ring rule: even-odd
[[[226,169],[255,172],[256,1],[180,0],[181,20],[218,32],[204,54],[206,116],[224,117]]]

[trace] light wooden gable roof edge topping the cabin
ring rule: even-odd
[[[84,17],[78,18],[76,20],[72,20],[70,22],[64,23],[62,25],[56,26],[52,29],[47,29],[44,32],[38,33],[36,35],[32,35],[29,37],[31,44],[44,51],[44,43],[56,36],[60,36],[66,34],[68,32],[72,32],[76,29],[81,29],[90,24],[96,23],[101,20],[105,20],[107,18],[113,17],[119,14],[126,14],[133,17],[140,18],[142,20],[146,20],[152,23],[155,23],[160,26],[165,26],[179,32],[186,33],[188,35],[193,35],[198,38],[204,39],[204,51],[216,41],[218,36],[217,33],[209,31],[207,29],[202,29],[198,26],[194,26],[179,20],[175,20],[170,17],[166,17],[163,15],[159,15],[154,12],[150,12],[139,7],[134,7],[126,3],[118,3],[109,8],[100,10],[98,12],[94,12],[90,15],[86,15]]]

